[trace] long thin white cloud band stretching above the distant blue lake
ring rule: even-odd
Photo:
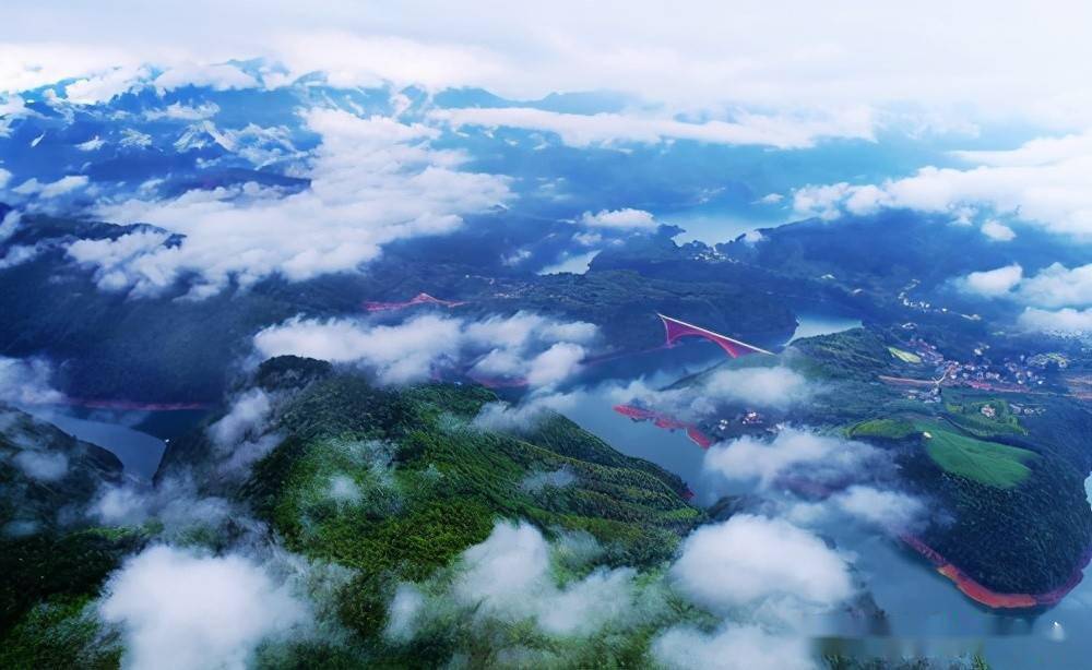
[[[711,144],[803,148],[812,146],[822,137],[871,140],[874,125],[871,113],[864,108],[822,118],[739,112],[733,121],[699,123],[619,113],[562,113],[529,107],[441,109],[430,112],[430,117],[447,121],[454,128],[508,127],[551,132],[565,144],[578,147],[692,140]]]

